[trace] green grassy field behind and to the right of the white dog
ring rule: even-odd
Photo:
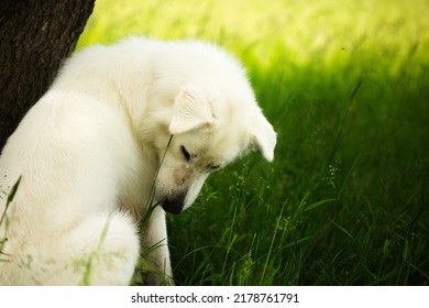
[[[237,54],[278,132],[168,217],[178,285],[429,284],[426,0],[98,0],[79,48],[130,34]]]

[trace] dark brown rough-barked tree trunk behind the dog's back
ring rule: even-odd
[[[0,3],[0,150],[47,90],[92,13],[95,0]]]

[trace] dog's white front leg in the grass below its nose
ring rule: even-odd
[[[174,285],[169,250],[167,241],[167,224],[165,212],[156,207],[146,223],[143,226],[142,254],[144,256],[144,280],[148,285]]]

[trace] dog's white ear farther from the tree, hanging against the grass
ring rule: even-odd
[[[266,161],[272,162],[274,158],[277,134],[262,112],[257,114],[253,124],[252,146],[256,147]]]

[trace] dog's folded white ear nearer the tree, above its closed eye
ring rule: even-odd
[[[210,100],[196,87],[184,87],[176,96],[168,130],[180,134],[213,122]]]

